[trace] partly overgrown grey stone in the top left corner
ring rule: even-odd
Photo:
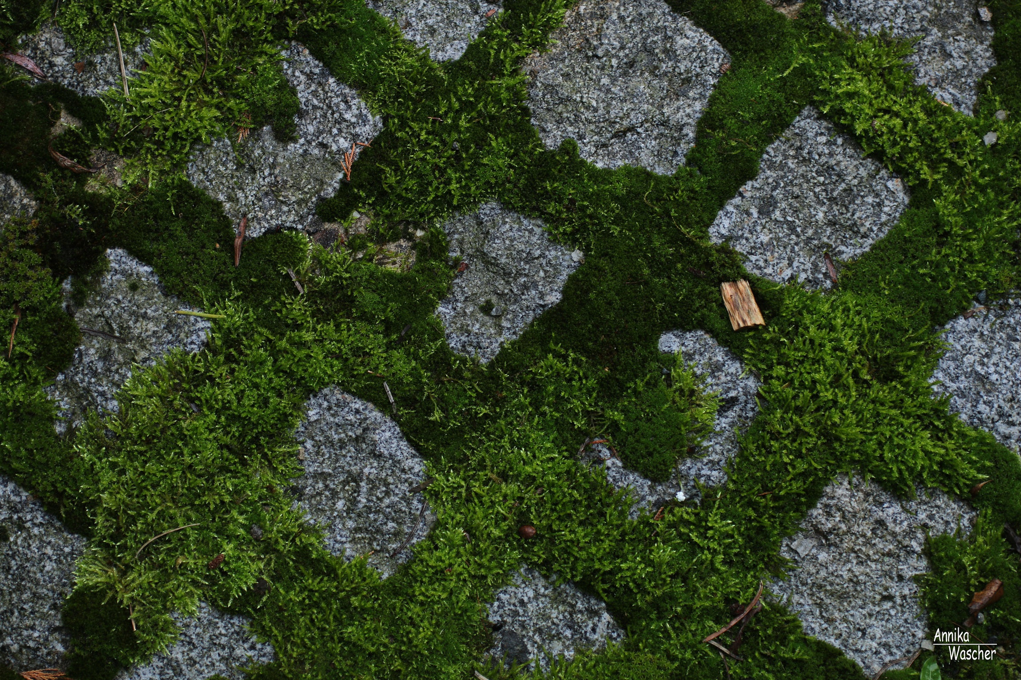
[[[120,62],[117,59],[112,31],[106,49],[102,52],[77,55],[64,39],[63,32],[52,23],[46,23],[38,33],[21,38],[20,51],[35,61],[48,79],[80,95],[98,97],[110,88],[124,90],[120,81]],[[129,91],[133,71],[142,68],[149,52],[148,38],[134,48],[125,49]],[[75,63],[79,61],[85,64],[81,73],[75,68]]]

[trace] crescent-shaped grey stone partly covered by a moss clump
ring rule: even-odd
[[[756,395],[759,380],[742,375],[740,360],[704,330],[672,330],[660,336],[660,351],[671,354],[680,352],[684,361],[706,380],[706,390],[719,393],[720,408],[713,422],[713,432],[706,438],[694,456],[682,458],[670,479],[665,482],[649,481],[637,472],[628,470],[620,459],[601,443],[589,447],[583,460],[602,465],[606,481],[615,489],[630,486],[635,498],[631,519],[642,510],[655,512],[671,501],[697,498],[695,481],[710,486],[726,483],[724,467],[737,454],[737,431],[743,431],[759,412]]]

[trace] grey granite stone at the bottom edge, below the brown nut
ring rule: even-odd
[[[506,655],[507,665],[538,659],[543,671],[552,659],[572,659],[577,647],[600,648],[606,640],[624,639],[624,631],[601,599],[571,582],[553,587],[531,567],[522,568],[510,585],[496,592],[489,605],[489,620],[502,624],[493,634],[496,644],[489,650],[491,657]]]

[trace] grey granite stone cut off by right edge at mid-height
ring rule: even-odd
[[[932,374],[951,396],[951,411],[983,427],[1005,447],[1021,450],[1021,298],[990,303],[970,319],[943,327],[949,345]]]

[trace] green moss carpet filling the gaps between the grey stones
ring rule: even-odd
[[[791,21],[759,0],[677,0],[733,63],[672,176],[595,168],[571,142],[542,147],[518,66],[562,19],[556,0],[510,0],[444,65],[353,0],[61,4],[60,20],[85,46],[100,44],[108,19],[128,40],[153,29],[164,43],[135,90],[147,96],[113,95],[98,108],[3,71],[0,171],[42,207],[34,221],[6,225],[0,246],[0,321],[12,322],[14,303],[22,314],[13,356],[0,359],[0,470],[91,536],[64,612],[74,677],[109,678],[144,659],[173,639],[171,611],[205,599],[248,615],[274,643],[278,661],[256,676],[465,678],[478,668],[509,678],[516,671],[479,666],[491,641],[483,604],[522,563],[597,593],[628,633],[548,677],[723,677],[699,640],[780,573],[780,539],[849,470],[902,495],[922,481],[970,499],[976,481],[994,479],[972,500],[981,514],[971,537],[929,541],[933,571],[920,583],[931,625],[945,628],[966,618],[972,592],[1004,580],[1006,595],[975,633],[994,635],[1006,657],[940,663],[957,677],[1016,673],[1021,580],[1001,527],[1021,522],[1021,465],[951,416],[927,377],[940,353],[933,327],[979,291],[1018,285],[1021,62],[1008,40],[1017,2],[990,5],[1000,66],[967,118],[912,85],[901,62],[910,46],[836,33],[812,2]],[[248,242],[235,269],[233,225],[175,176],[189,146],[210,135],[249,120],[286,128],[286,115],[259,111],[294,104],[274,56],[275,41],[290,36],[386,121],[321,215],[371,210],[379,243],[427,229],[411,271],[286,233]],[[232,74],[239,66],[246,75]],[[167,101],[176,108],[157,114]],[[898,172],[912,204],[828,295],[752,278],[769,325],[735,333],[718,285],[747,276],[737,254],[709,243],[708,225],[810,103]],[[134,154],[125,190],[89,193],[84,177],[56,167],[46,145],[60,106],[88,123],[56,141],[63,153],[84,162],[105,144]],[[999,108],[1011,117],[996,120]],[[143,120],[148,136],[132,128]],[[1000,142],[986,148],[988,129]],[[450,353],[433,310],[454,272],[437,220],[489,199],[540,217],[586,262],[563,302],[482,367]],[[66,365],[77,330],[57,284],[68,274],[88,281],[115,246],[153,265],[168,292],[226,318],[202,353],[172,353],[137,373],[117,415],[59,438],[41,387]],[[762,376],[762,414],[726,486],[632,521],[628,500],[576,452],[586,436],[609,434],[628,443],[631,467],[661,477],[665,457],[687,454],[713,404],[676,367],[665,380],[673,360],[657,339],[675,328],[704,328],[741,355]],[[415,560],[386,581],[361,560],[330,557],[287,493],[304,400],[339,384],[385,409],[383,380],[435,478],[426,493],[438,517]],[[247,532],[253,523],[265,527],[262,540]],[[524,523],[537,529],[530,541],[516,533]],[[208,569],[218,554],[223,568]],[[259,578],[268,593],[256,591]],[[862,677],[776,604],[755,619],[741,656],[735,678]]]

